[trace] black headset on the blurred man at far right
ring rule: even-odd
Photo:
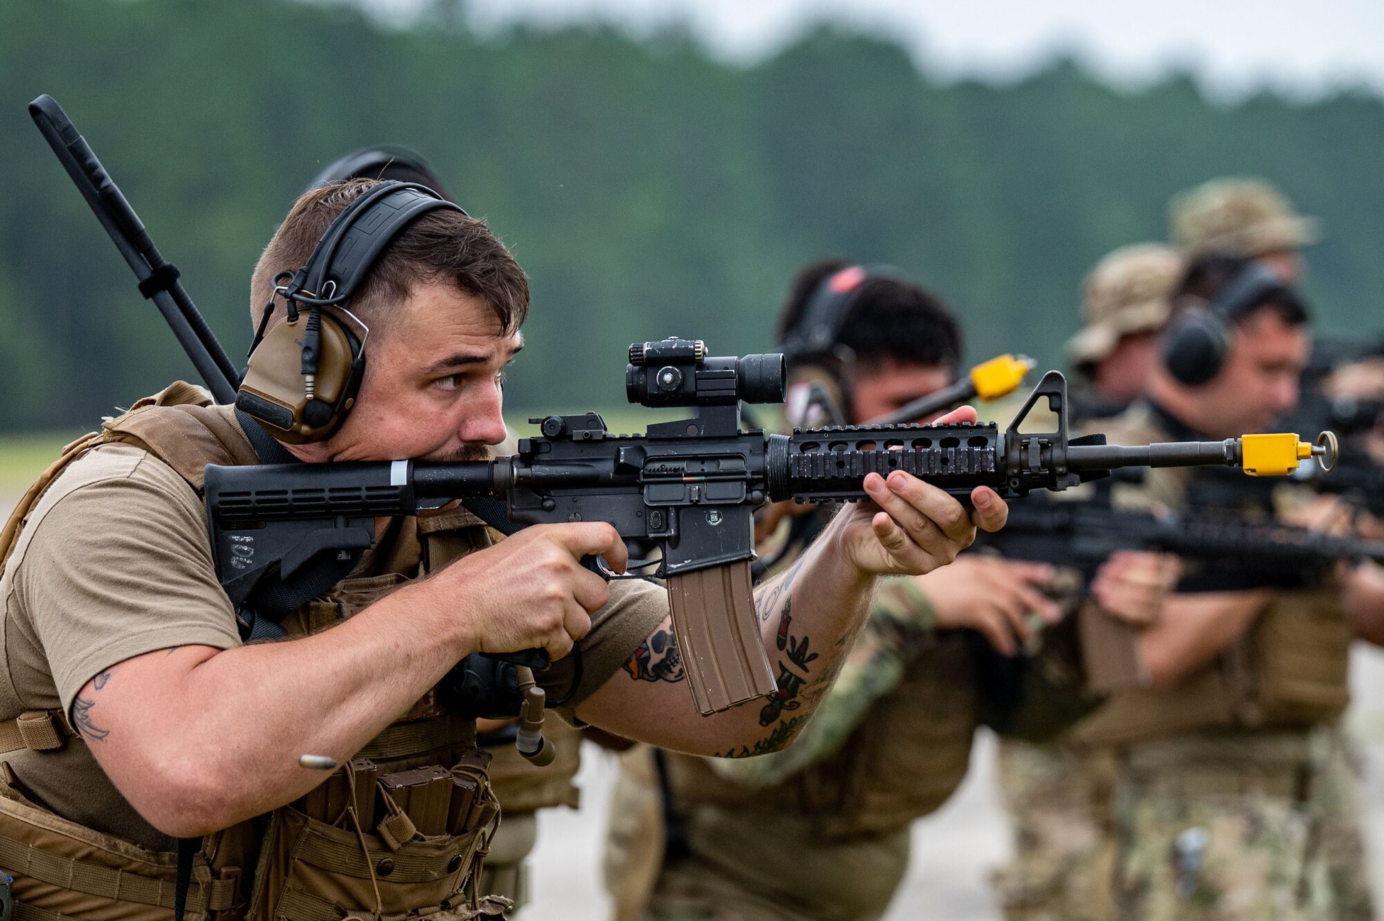
[[[1163,364],[1189,387],[1208,383],[1225,365],[1235,339],[1235,321],[1271,296],[1297,299],[1269,266],[1254,260],[1221,288],[1204,306],[1179,315],[1163,342]]]

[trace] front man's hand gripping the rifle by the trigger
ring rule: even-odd
[[[476,653],[544,649],[552,660],[591,631],[609,584],[581,566],[603,556],[623,573],[628,552],[603,521],[537,524],[457,560],[418,586],[432,604],[469,620],[462,633]]]

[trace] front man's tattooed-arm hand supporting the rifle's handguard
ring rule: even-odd
[[[976,422],[970,407],[955,409],[938,422]],[[976,539],[976,528],[998,531],[1009,506],[990,487],[970,492],[972,509],[944,490],[902,470],[889,477],[865,477],[871,502],[848,506],[840,535],[844,559],[866,574],[922,575],[947,566]]]

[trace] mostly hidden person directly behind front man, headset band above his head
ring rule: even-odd
[[[419,183],[447,201],[457,201],[421,154],[396,144],[346,154],[324,166],[307,188],[353,178]],[[515,447],[511,434],[491,454],[513,454]],[[520,915],[530,896],[527,857],[538,842],[537,812],[555,806],[576,809],[581,802],[581,791],[572,781],[581,768],[581,732],[561,719],[547,720],[544,733],[556,747],[558,756],[545,768],[536,768],[519,755],[516,732],[518,720],[476,720],[476,747],[491,758],[490,785],[504,812],[504,821],[490,839],[479,891],[511,899],[515,903],[508,914],[511,918]]]

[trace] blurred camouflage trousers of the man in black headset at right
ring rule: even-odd
[[[1374,917],[1356,785],[1334,726],[1138,747],[1116,798],[1122,917]]]

